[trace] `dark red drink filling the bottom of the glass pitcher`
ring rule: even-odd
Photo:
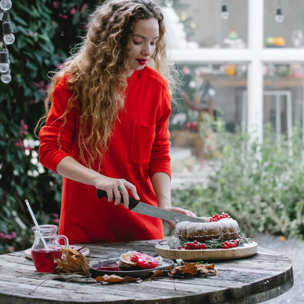
[[[54,257],[61,259],[62,250],[49,248],[49,252],[46,252],[45,249],[38,249],[32,251],[31,254],[37,271],[51,272],[57,267]]]

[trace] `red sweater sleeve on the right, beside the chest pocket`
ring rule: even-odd
[[[156,123],[155,139],[152,146],[149,175],[150,178],[156,172],[167,173],[171,178],[171,166],[169,156],[170,133],[168,130],[169,116],[171,113],[171,98],[167,86],[163,87],[160,117]]]

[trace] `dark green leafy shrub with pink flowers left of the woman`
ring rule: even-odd
[[[33,223],[25,199],[40,224],[57,221],[49,214],[59,213],[61,178],[37,163],[33,130],[43,112],[47,72],[81,42],[96,3],[15,0],[9,10],[16,40],[8,46],[12,81],[0,82],[0,254],[31,247]]]

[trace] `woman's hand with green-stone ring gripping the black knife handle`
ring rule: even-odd
[[[131,191],[134,199],[139,200],[139,196],[136,192],[136,187],[125,179],[110,178],[102,175],[96,178],[95,187],[107,192],[109,202],[112,202],[113,196],[115,196],[114,205],[116,206],[120,204],[120,195],[122,195],[123,205],[125,208],[129,208],[129,194],[127,189]],[[123,191],[121,191],[119,187],[121,187]]]

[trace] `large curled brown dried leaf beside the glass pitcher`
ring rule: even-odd
[[[62,250],[64,253],[64,249]],[[55,270],[66,271],[67,273],[82,272],[86,275],[90,274],[89,264],[87,258],[79,251],[69,248],[67,257],[58,259],[54,258],[54,262],[58,264]]]

